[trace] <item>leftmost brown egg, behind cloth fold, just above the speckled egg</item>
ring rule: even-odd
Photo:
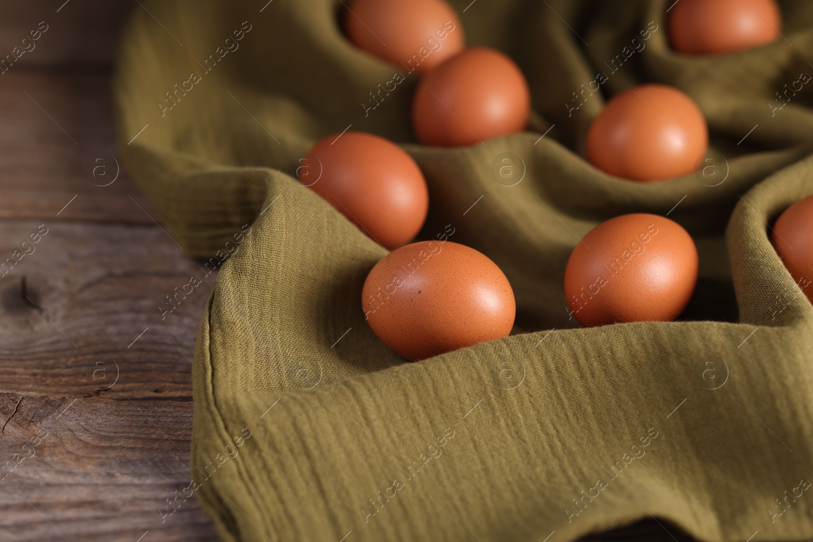
[[[313,145],[297,176],[387,249],[411,241],[424,225],[424,175],[409,154],[383,137],[331,134]]]

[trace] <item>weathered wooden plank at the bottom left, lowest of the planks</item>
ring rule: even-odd
[[[0,424],[0,540],[220,540],[194,499],[168,515],[189,485],[191,403],[2,393]]]

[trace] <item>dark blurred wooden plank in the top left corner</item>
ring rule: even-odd
[[[19,55],[11,70],[33,66],[109,65],[124,18],[133,6],[138,5],[130,0],[6,2],[0,20],[0,58],[7,54]],[[37,41],[31,41],[31,31],[37,30],[42,21],[47,25],[42,27],[47,28],[46,32],[41,33]],[[28,38],[28,42],[23,43],[24,38]],[[16,52],[15,46],[20,46]],[[20,54],[20,50],[25,52]]]

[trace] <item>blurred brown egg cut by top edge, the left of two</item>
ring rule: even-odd
[[[424,73],[463,50],[463,25],[443,0],[356,0],[345,32],[360,49]],[[403,71],[402,70],[402,71]]]

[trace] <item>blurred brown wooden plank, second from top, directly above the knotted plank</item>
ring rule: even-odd
[[[0,119],[0,219],[159,219],[121,167],[109,72],[11,69]]]

